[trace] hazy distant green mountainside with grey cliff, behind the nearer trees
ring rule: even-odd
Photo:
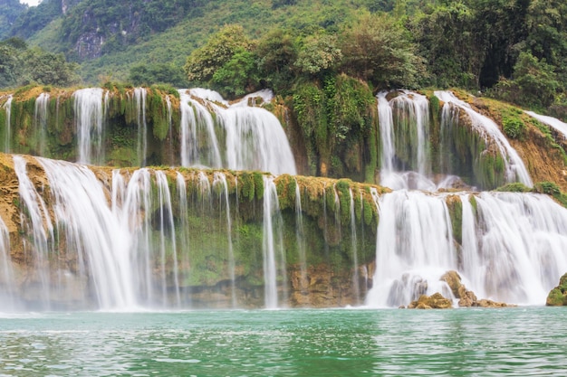
[[[82,63],[82,78],[126,80],[130,67],[168,63],[179,68],[187,55],[224,24],[242,24],[258,37],[274,27],[336,30],[354,11],[371,5],[391,8],[391,1],[257,0],[254,2],[168,0],[44,0],[14,24],[19,36],[51,52],[64,52]],[[377,3],[377,5],[373,5]],[[65,6],[63,12],[62,5]]]

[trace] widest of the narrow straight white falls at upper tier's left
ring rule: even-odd
[[[102,161],[103,156],[103,118],[101,88],[76,90],[74,97],[75,125],[79,139],[80,164]]]

